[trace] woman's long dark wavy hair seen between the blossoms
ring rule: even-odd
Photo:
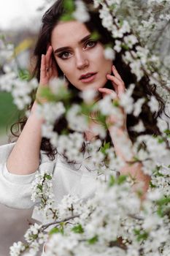
[[[85,4],[88,4],[89,1],[85,1]],[[52,7],[50,7],[47,12],[45,12],[45,15],[42,17],[42,27],[39,31],[39,37],[36,42],[36,46],[34,49],[34,56],[36,57],[36,64],[34,68],[33,75],[36,76],[36,78],[39,80],[40,78],[40,66],[41,66],[41,56],[42,54],[46,54],[47,51],[47,45],[49,45],[51,40],[51,34],[55,26],[57,25],[58,21],[61,18],[61,15],[63,15],[66,12],[63,4],[63,0],[58,0],[53,4]],[[112,38],[111,34],[107,29],[104,28],[101,24],[101,18],[99,18],[98,10],[89,10],[90,20],[88,22],[85,22],[85,26],[90,32],[97,32],[99,34],[99,41],[103,45],[107,45],[112,43],[114,45],[114,39]],[[135,50],[135,49],[134,49]],[[158,95],[156,92],[156,86],[150,85],[149,80],[150,78],[147,75],[144,75],[141,80],[136,79],[136,75],[132,74],[131,68],[129,65],[125,64],[122,56],[123,53],[125,53],[125,50],[121,50],[120,53],[116,53],[114,64],[117,68],[117,71],[119,72],[121,78],[125,82],[126,88],[131,83],[135,84],[135,89],[133,92],[132,97],[134,97],[134,101],[137,99],[140,99],[144,97],[146,101],[144,102],[144,105],[142,106],[142,112],[139,114],[139,117],[133,116],[129,114],[127,116],[127,129],[128,134],[132,141],[135,141],[137,136],[139,134],[150,134],[150,135],[160,135],[161,132],[159,131],[157,127],[157,117],[161,117],[161,114],[165,113],[165,102],[163,102],[163,99]],[[54,56],[53,56],[54,59]],[[58,64],[56,63],[56,68],[58,69],[58,75],[59,77],[63,77],[63,72],[58,67]],[[110,81],[107,82],[105,87],[112,89],[112,83]],[[75,87],[69,83],[69,89],[75,92],[75,96],[72,99],[72,102],[81,102],[82,99],[78,96],[78,90],[75,89]],[[36,92],[35,92],[36,93]],[[159,109],[158,112],[152,113],[150,111],[149,106],[147,105],[147,102],[150,100],[151,96],[155,96],[155,98],[158,100],[159,103]],[[31,105],[29,106],[29,109],[31,109],[32,105],[34,103],[34,97]],[[131,127],[133,127],[135,124],[138,123],[139,118],[143,121],[145,131],[138,133],[132,131]],[[26,116],[20,119],[17,123],[13,124],[11,127],[12,135],[15,135],[16,137],[19,137],[20,133],[19,131],[22,131],[23,127],[25,126],[27,121]],[[18,126],[17,132],[14,132],[14,127]],[[54,130],[60,134],[63,129],[68,128],[68,124],[66,121],[66,118],[61,118],[58,122],[56,121]],[[71,131],[72,132],[72,131]],[[109,137],[109,132],[107,133],[107,141],[111,142],[111,138]],[[50,159],[54,159],[55,154],[57,153],[57,148],[53,148],[53,146],[50,143],[50,140],[47,138],[42,138],[41,143],[41,149],[45,151],[48,157]],[[85,150],[85,147],[82,149]]]

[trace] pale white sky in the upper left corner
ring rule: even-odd
[[[43,3],[43,0],[0,0],[0,29],[27,26],[40,15],[36,9]]]

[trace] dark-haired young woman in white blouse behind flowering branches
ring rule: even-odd
[[[102,97],[112,94],[120,97],[125,92],[125,87],[131,83],[136,84],[134,99],[154,95],[160,103],[158,113],[152,115],[150,108],[145,105],[140,118],[146,127],[146,133],[158,134],[156,117],[163,112],[163,100],[155,92],[154,86],[149,86],[149,78],[144,77],[137,81],[130,68],[123,64],[121,54],[117,53],[114,64],[104,57],[104,45],[114,40],[107,29],[101,25],[97,12],[89,12],[90,20],[80,23],[77,20],[61,21],[64,13],[63,1],[58,0],[48,10],[42,19],[42,29],[36,43],[35,75],[39,80],[39,89],[47,86],[49,80],[55,77],[65,76],[69,82],[69,89],[84,91],[95,89]],[[92,39],[93,32],[100,37]],[[116,66],[116,67],[115,67]],[[31,182],[34,181],[36,170],[50,170],[54,175],[53,189],[56,203],[59,203],[63,195],[77,194],[86,199],[95,192],[96,175],[88,172],[82,165],[79,170],[74,170],[72,165],[64,162],[56,154],[50,141],[42,138],[41,127],[43,120],[36,117],[37,100],[43,103],[45,99],[39,97],[39,89],[36,99],[31,106],[31,116],[24,122],[20,122],[22,132],[16,143],[1,146],[1,172],[0,172],[0,202],[13,208],[30,208]],[[77,99],[77,95],[75,97]],[[57,110],[56,110],[57,111]],[[115,121],[115,120],[114,120]],[[117,145],[117,138],[125,136],[127,143],[133,143],[136,134],[130,127],[138,122],[138,119],[128,115],[127,121],[124,115],[124,124],[112,132],[109,127],[109,140],[114,144],[118,157],[124,161],[130,161],[123,153],[123,149]],[[56,124],[55,130],[64,128],[65,123]],[[94,125],[93,123],[91,125]],[[61,127],[62,126],[62,127]],[[88,131],[85,132],[86,140],[95,137]],[[133,153],[132,153],[133,157]],[[129,167],[125,165],[120,174],[131,174],[136,181],[143,181],[143,192],[147,191],[150,177],[142,172],[141,164]],[[41,221],[34,211],[33,217]]]

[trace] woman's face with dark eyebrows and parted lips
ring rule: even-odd
[[[103,45],[90,39],[90,31],[83,23],[58,23],[51,35],[51,45],[58,66],[77,89],[98,89],[107,83],[112,61],[105,59]]]

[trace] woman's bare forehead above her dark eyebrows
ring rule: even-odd
[[[51,43],[58,48],[80,42],[90,31],[78,21],[59,22],[52,31]]]

